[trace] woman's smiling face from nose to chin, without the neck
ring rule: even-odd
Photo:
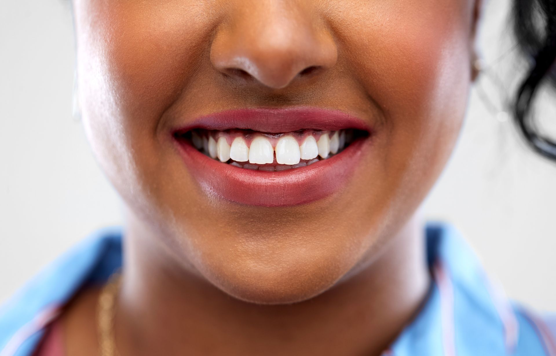
[[[376,257],[443,169],[475,6],[75,0],[87,136],[133,230],[183,269],[251,302],[314,297]],[[281,162],[261,163],[269,149]]]

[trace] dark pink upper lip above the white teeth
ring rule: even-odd
[[[181,133],[196,128],[220,131],[239,128],[267,133],[293,132],[302,129],[336,131],[345,128],[371,131],[369,123],[344,111],[306,106],[221,111],[195,118],[174,132]]]

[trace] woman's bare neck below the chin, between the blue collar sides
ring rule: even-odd
[[[380,355],[429,289],[418,215],[386,238],[370,265],[315,298],[286,305],[230,297],[177,267],[134,225],[126,231],[115,317],[122,355]]]

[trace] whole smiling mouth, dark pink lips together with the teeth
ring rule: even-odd
[[[343,149],[334,147],[334,140],[338,141],[345,132],[352,135],[352,141],[345,143]],[[294,107],[214,113],[172,129],[171,137],[187,169],[212,198],[247,205],[284,207],[326,198],[349,183],[372,132],[368,123],[345,112]],[[247,146],[255,142],[257,154],[236,155],[244,158],[234,161],[229,158],[227,147],[240,139],[246,143],[247,151],[250,148]],[[320,149],[315,158],[300,158],[304,157],[306,141],[326,141],[329,144],[330,139],[333,143],[330,154],[322,153]],[[212,143],[210,147],[209,141]],[[290,153],[287,153],[287,159],[281,159],[281,163],[290,165],[276,161],[276,154],[279,160],[286,157],[284,147],[289,148]],[[221,148],[224,154],[221,154]],[[256,162],[249,160],[254,156],[258,159],[261,154],[269,158]],[[310,158],[307,153],[305,157]]]

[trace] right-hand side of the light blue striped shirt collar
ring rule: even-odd
[[[449,224],[429,222],[425,240],[434,283],[418,315],[386,354],[512,354],[518,336],[513,309],[461,234]]]

